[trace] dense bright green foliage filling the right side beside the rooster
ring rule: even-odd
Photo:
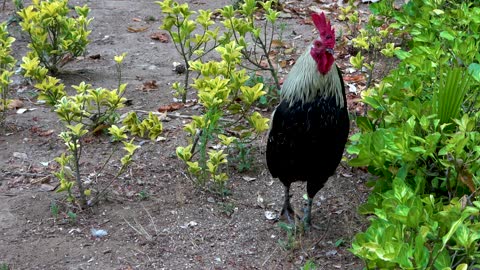
[[[398,67],[363,93],[371,110],[357,119],[348,147],[351,165],[376,176],[361,207],[374,218],[352,252],[368,268],[475,269],[480,5],[414,0],[395,11],[392,4],[372,8],[393,16],[396,36],[411,39],[408,50],[393,51]]]

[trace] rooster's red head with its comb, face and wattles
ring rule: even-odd
[[[325,18],[325,14],[312,14],[312,20],[315,27],[320,34],[320,37],[315,39],[310,49],[310,55],[317,62],[318,71],[325,75],[330,71],[333,62],[333,48],[335,47],[335,29],[330,25],[330,22]]]

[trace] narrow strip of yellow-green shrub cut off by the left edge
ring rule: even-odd
[[[10,77],[15,67],[15,58],[12,54],[12,44],[15,38],[10,37],[7,31],[7,24],[0,24],[0,126],[3,126],[8,103],[9,85],[12,82]]]

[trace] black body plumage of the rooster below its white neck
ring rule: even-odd
[[[340,76],[343,104],[322,90],[309,102],[283,100],[273,114],[268,136],[266,159],[272,176],[286,187],[307,181],[310,198],[334,174],[350,127],[342,75],[338,67],[333,68]]]

